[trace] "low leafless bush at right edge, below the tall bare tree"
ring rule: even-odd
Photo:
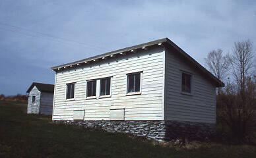
[[[247,78],[245,82],[245,98],[238,91],[236,83],[228,83],[226,92],[218,95],[218,119],[226,124],[232,134],[232,140],[243,141],[245,136],[253,132],[253,126],[256,125],[256,81],[253,78]],[[223,129],[222,129],[223,130]]]

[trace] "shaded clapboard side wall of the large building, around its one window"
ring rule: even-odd
[[[215,123],[215,86],[177,53],[166,50],[165,57],[165,119]],[[192,95],[181,93],[181,71],[192,74]]]

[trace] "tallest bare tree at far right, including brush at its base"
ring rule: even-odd
[[[256,109],[256,82],[253,74],[253,43],[235,42],[229,57],[234,83],[227,85],[220,98],[223,119],[234,137],[243,140],[250,132]]]

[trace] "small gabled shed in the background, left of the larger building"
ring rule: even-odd
[[[27,113],[52,115],[53,84],[33,82],[26,92],[28,93]]]

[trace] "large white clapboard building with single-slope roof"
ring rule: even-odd
[[[52,69],[56,72],[53,120],[105,121],[113,129],[119,123],[165,130],[177,122],[212,127],[216,87],[224,86],[168,38]],[[161,132],[166,135],[165,130]],[[134,128],[120,131],[141,133]],[[144,133],[150,137],[151,132]]]

